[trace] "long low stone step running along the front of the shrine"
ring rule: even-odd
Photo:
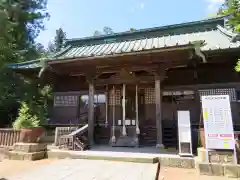
[[[54,159],[90,159],[109,160],[135,163],[160,163],[161,166],[177,168],[195,168],[194,158],[180,157],[170,154],[126,153],[126,152],[97,152],[97,151],[66,151],[52,149],[48,151],[48,158]]]

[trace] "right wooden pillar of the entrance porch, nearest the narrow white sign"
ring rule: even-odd
[[[157,147],[164,147],[162,142],[162,95],[161,95],[161,79],[155,75],[155,98],[156,98],[156,126],[157,126]]]

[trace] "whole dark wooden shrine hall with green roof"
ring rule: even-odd
[[[48,125],[88,124],[90,145],[177,147],[177,111],[198,128],[201,95],[230,95],[237,127],[239,40],[213,18],[69,39],[50,58],[9,67],[51,82]]]

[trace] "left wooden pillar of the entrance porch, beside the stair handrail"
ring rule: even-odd
[[[88,94],[88,140],[90,145],[94,144],[94,84],[89,81]]]

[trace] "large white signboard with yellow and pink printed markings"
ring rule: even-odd
[[[236,155],[229,95],[202,96],[202,113],[206,149],[234,150]]]

